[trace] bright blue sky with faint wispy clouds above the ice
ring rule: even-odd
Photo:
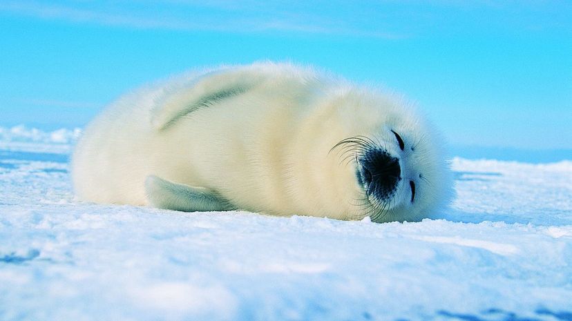
[[[0,126],[84,126],[198,66],[288,60],[416,102],[453,145],[572,148],[570,1],[0,3]]]

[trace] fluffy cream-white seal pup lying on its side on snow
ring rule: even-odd
[[[411,222],[447,200],[441,144],[402,99],[261,62],[120,98],[87,126],[72,174],[87,202]]]

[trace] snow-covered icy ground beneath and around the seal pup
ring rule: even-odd
[[[572,320],[572,162],[455,159],[442,220],[73,200],[77,131],[0,128],[0,320]]]

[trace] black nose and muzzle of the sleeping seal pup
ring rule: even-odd
[[[385,150],[368,150],[359,159],[361,170],[358,179],[368,195],[384,200],[390,197],[401,179],[399,159]]]

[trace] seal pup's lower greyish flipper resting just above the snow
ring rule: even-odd
[[[169,182],[157,176],[145,180],[145,193],[151,205],[175,211],[231,211],[229,201],[204,187]]]

